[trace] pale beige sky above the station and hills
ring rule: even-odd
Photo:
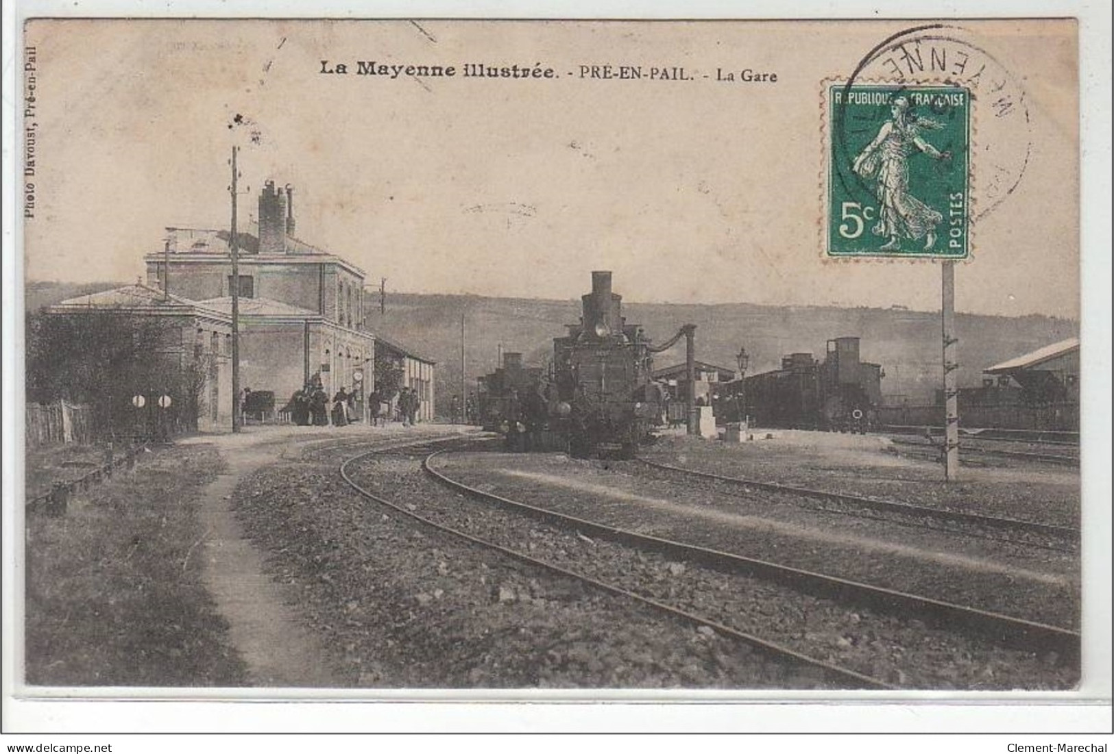
[[[628,301],[937,309],[936,264],[821,254],[822,82],[906,26],[31,22],[25,274],[133,280],[165,227],[227,227],[240,145],[241,218],[255,216],[265,179],[294,186],[297,236],[373,287],[385,277],[392,291],[568,299],[589,270],[610,269]],[[957,308],[1076,318],[1074,23],[970,21],[955,34],[1010,77],[1027,116],[996,130],[976,109],[976,150],[1006,155],[1018,175],[974,224]],[[361,60],[458,72],[359,76]],[[341,62],[350,73],[321,72]],[[540,65],[555,78],[465,78],[467,62]],[[604,65],[683,67],[693,80],[582,76]],[[716,81],[717,69],[778,81]],[[978,200],[997,162],[983,173],[974,162]]]

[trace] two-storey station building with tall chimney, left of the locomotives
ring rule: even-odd
[[[377,338],[364,319],[365,272],[344,258],[294,236],[294,190],[267,181],[258,196],[258,221],[232,236],[212,228],[166,229],[163,249],[145,255],[146,285],[82,296],[52,308],[59,314],[107,311],[175,316],[183,331],[218,333],[219,368],[206,393],[198,428],[231,426],[232,292],[238,292],[240,386],[273,394],[276,413],[307,381],[320,377],[330,399],[342,387],[355,394],[356,416],[368,417]],[[188,326],[187,326],[188,323]],[[183,344],[188,338],[185,335]],[[213,341],[216,343],[216,341]],[[206,348],[214,348],[206,341]],[[185,346],[183,346],[185,348]],[[398,343],[385,346],[405,386],[418,388],[421,418],[433,417],[433,366]],[[188,348],[185,353],[188,353]]]

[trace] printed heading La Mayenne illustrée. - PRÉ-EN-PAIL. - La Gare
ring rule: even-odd
[[[322,60],[317,71],[331,76],[370,76],[384,79],[401,77],[417,78],[477,78],[477,79],[558,79],[561,73],[541,63],[489,65],[468,62],[460,66],[429,66],[414,63],[383,63],[375,60],[358,60],[354,63],[332,62]],[[778,73],[760,71],[753,68],[729,70],[716,68],[715,72],[702,72],[685,69],[683,66],[615,66],[585,65],[576,66],[566,76],[578,79],[620,80],[620,81],[695,81],[710,79],[713,81],[739,81],[743,83],[776,83]]]

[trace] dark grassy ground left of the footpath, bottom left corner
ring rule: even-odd
[[[196,446],[144,454],[65,516],[27,519],[27,683],[245,682],[202,582],[201,493],[222,466]]]

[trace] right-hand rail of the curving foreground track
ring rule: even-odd
[[[830,599],[869,605],[881,612],[902,616],[915,613],[941,627],[954,629],[956,626],[962,626],[983,634],[993,641],[1016,648],[1053,651],[1065,658],[1078,658],[1079,656],[1079,634],[1067,628],[980,611],[974,607],[965,607],[896,589],[871,586],[838,576],[793,568],[709,547],[688,545],[646,534],[637,534],[617,526],[599,524],[576,516],[567,516],[476,489],[449,478],[429,465],[429,462],[441,453],[430,454],[422,462],[422,468],[426,469],[427,474],[438,479],[441,484],[470,497],[496,503],[551,524],[566,527],[575,526],[578,529],[592,532],[596,536],[606,537],[614,542],[667,553],[675,557],[686,558],[719,569],[744,573],[774,583],[788,584]]]

